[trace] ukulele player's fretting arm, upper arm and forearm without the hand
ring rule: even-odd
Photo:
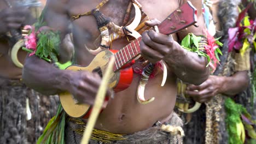
[[[187,1],[183,1],[184,3]],[[202,2],[191,1],[197,8],[197,27],[190,26],[187,29],[178,33],[179,39],[183,39],[189,33],[195,35],[203,35],[203,17],[202,17]],[[210,68],[206,67],[207,59],[205,57],[198,56],[197,53],[189,52],[183,48],[176,52],[177,56],[174,57],[173,62],[170,62],[170,68],[177,77],[184,82],[193,83],[194,85],[200,85],[207,80],[210,75]]]

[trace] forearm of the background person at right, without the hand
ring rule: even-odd
[[[232,96],[244,91],[249,86],[247,71],[237,71],[234,75],[222,76],[220,93]]]

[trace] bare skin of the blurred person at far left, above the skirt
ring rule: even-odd
[[[8,0],[13,4],[15,0]],[[13,7],[4,1],[0,1],[0,35],[5,35],[11,29],[20,29],[21,26],[30,25],[34,18],[31,16],[29,8]],[[22,69],[16,67],[10,59],[8,54],[11,49],[8,39],[0,37],[0,77],[6,79],[21,79]],[[27,52],[20,50],[18,52],[18,59],[24,63]]]

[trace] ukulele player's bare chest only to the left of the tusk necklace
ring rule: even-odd
[[[68,13],[71,16],[84,14],[92,9],[95,9],[100,1],[82,1],[82,0],[74,0],[72,4],[70,4],[71,8]],[[100,12],[108,17],[111,21],[113,21],[117,25],[121,25],[124,19],[124,15],[126,13],[127,5],[129,1],[109,1],[100,8]],[[82,16],[79,19],[74,20],[73,22],[74,29],[79,29],[79,33],[83,32],[86,36],[87,42],[95,41],[100,32],[98,31],[97,21],[93,15]],[[91,47],[92,48],[92,47]]]

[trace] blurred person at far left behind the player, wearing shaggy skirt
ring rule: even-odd
[[[13,29],[20,31],[22,26],[34,21],[32,11],[16,7],[18,2],[0,1],[0,143],[35,143],[46,123],[55,114],[58,100],[46,96],[38,99],[38,93],[20,81],[22,69],[11,61],[11,47],[17,41],[11,40],[13,38],[7,33]],[[26,55],[25,51],[18,52],[21,63],[24,63]],[[32,118],[29,118],[31,113],[26,112],[26,104],[30,106]]]

